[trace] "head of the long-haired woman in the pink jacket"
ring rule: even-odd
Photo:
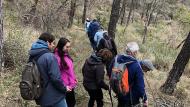
[[[67,38],[60,38],[56,47],[60,52],[68,53],[71,49],[70,41]]]

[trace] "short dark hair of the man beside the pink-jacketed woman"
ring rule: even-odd
[[[48,41],[49,43],[51,43],[55,40],[55,37],[48,32],[44,32],[40,35],[40,37],[38,39],[43,40],[45,42]]]

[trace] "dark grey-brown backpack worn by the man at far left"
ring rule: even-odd
[[[42,78],[38,69],[37,60],[40,56],[48,53],[48,50],[43,50],[39,55],[30,57],[28,63],[22,71],[22,79],[19,85],[21,97],[25,100],[36,100],[42,94]]]

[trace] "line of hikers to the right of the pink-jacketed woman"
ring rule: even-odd
[[[148,106],[143,71],[154,69],[150,60],[137,60],[139,46],[136,42],[127,43],[125,53],[118,54],[114,40],[97,20],[87,19],[87,35],[93,54],[86,59],[82,69],[83,85],[90,96],[88,107],[103,106],[102,89],[113,91],[118,99],[118,107]],[[104,82],[106,67],[109,85]],[[112,95],[110,95],[111,97]]]

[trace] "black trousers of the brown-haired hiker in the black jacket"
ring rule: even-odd
[[[94,102],[96,101],[97,107],[103,107],[103,93],[101,89],[90,90],[86,89],[90,96],[88,107],[94,107]]]

